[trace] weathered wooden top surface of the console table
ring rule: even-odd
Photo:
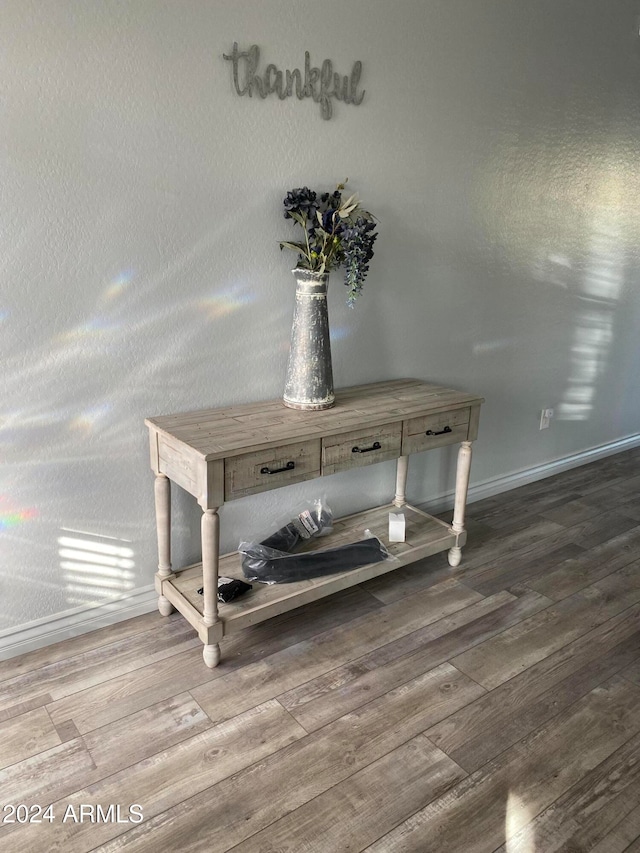
[[[335,406],[320,411],[289,409],[278,399],[162,415],[147,418],[145,424],[209,460],[245,449],[319,439],[482,402],[483,398],[476,394],[419,379],[393,379],[339,389]]]

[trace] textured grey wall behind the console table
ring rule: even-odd
[[[145,416],[281,393],[294,186],[348,176],[380,219],[354,311],[332,278],[337,385],[484,394],[475,481],[639,431],[637,0],[0,13],[0,630],[151,583]],[[240,98],[234,41],[263,67],[359,59],[364,102],[323,121]],[[451,454],[427,456],[414,500],[451,483]],[[321,487],[344,513],[392,480],[383,464]],[[317,488],[229,504],[225,548]],[[198,512],[176,494],[174,513],[179,565]]]

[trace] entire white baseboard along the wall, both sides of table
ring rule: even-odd
[[[568,471],[571,468],[577,468],[580,465],[586,465],[589,462],[595,462],[597,459],[613,456],[615,453],[622,453],[634,447],[640,447],[640,434],[618,439],[609,444],[593,447],[590,450],[583,450],[580,453],[565,456],[553,462],[545,462],[543,465],[536,465],[523,471],[495,477],[482,483],[474,483],[469,487],[468,502],[473,503],[483,498],[493,497],[516,489],[518,486],[524,486],[545,477],[552,477],[562,471]],[[420,506],[431,513],[445,512],[453,506],[453,491],[421,503]],[[0,632],[0,660],[7,660],[25,652],[52,645],[70,637],[76,637],[79,634],[95,631],[106,625],[113,625],[115,622],[122,622],[125,619],[132,619],[134,616],[150,613],[156,607],[157,594],[151,585],[133,590],[126,598],[108,605],[76,608],[16,628],[9,628]]]

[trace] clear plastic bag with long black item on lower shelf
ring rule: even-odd
[[[247,580],[267,584],[294,583],[393,559],[382,542],[370,534],[359,542],[335,548],[293,553],[303,542],[330,533],[333,528],[331,510],[326,504],[318,500],[313,507],[312,511],[307,509],[300,513],[262,542],[240,543],[238,551]]]

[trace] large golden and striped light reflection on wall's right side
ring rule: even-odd
[[[540,355],[532,374],[540,404],[553,406],[556,419],[584,422],[612,368],[626,265],[640,239],[640,170],[624,135],[586,136],[580,150],[549,145],[543,128],[528,131],[526,139],[506,134],[492,150],[478,181],[478,211],[509,275],[557,289],[540,289],[540,299],[566,310],[566,320],[554,328],[552,313],[532,318]],[[474,352],[486,355],[501,343]]]

